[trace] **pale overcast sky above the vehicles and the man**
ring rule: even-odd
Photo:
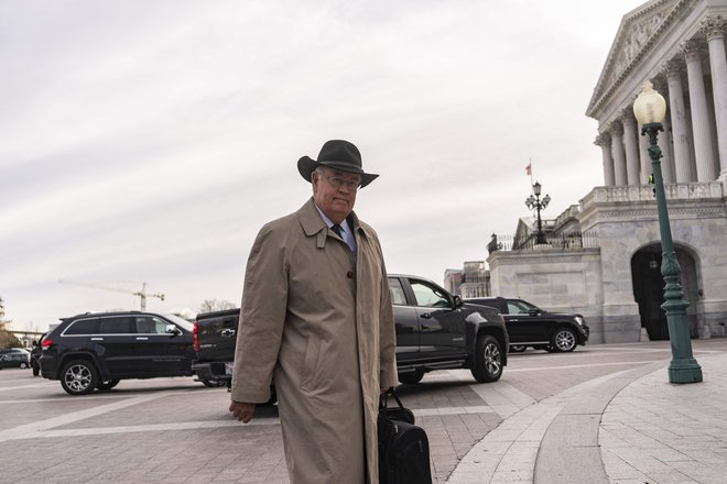
[[[389,272],[443,283],[603,185],[584,114],[640,0],[0,1],[0,296],[15,329],[239,305],[268,220],[329,139],[381,176],[356,212]]]

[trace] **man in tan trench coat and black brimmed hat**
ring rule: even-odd
[[[291,484],[377,484],[395,336],[377,233],[352,209],[378,175],[341,140],[297,168],[312,199],[267,223],[248,258],[230,411],[250,421],[274,381]]]

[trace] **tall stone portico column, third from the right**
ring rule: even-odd
[[[688,123],[684,108],[684,90],[682,88],[682,68],[677,61],[669,61],[664,65],[669,82],[669,108],[674,140],[674,167],[676,183],[693,182],[692,150],[690,148]]]

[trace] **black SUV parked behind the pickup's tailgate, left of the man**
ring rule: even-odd
[[[193,326],[173,315],[85,314],[43,338],[41,374],[70,395],[110,389],[120,380],[192,376]]]

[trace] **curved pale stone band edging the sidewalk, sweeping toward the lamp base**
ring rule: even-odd
[[[623,387],[663,366],[606,375],[523,408],[478,442],[447,484],[608,484],[598,447],[601,415]]]

